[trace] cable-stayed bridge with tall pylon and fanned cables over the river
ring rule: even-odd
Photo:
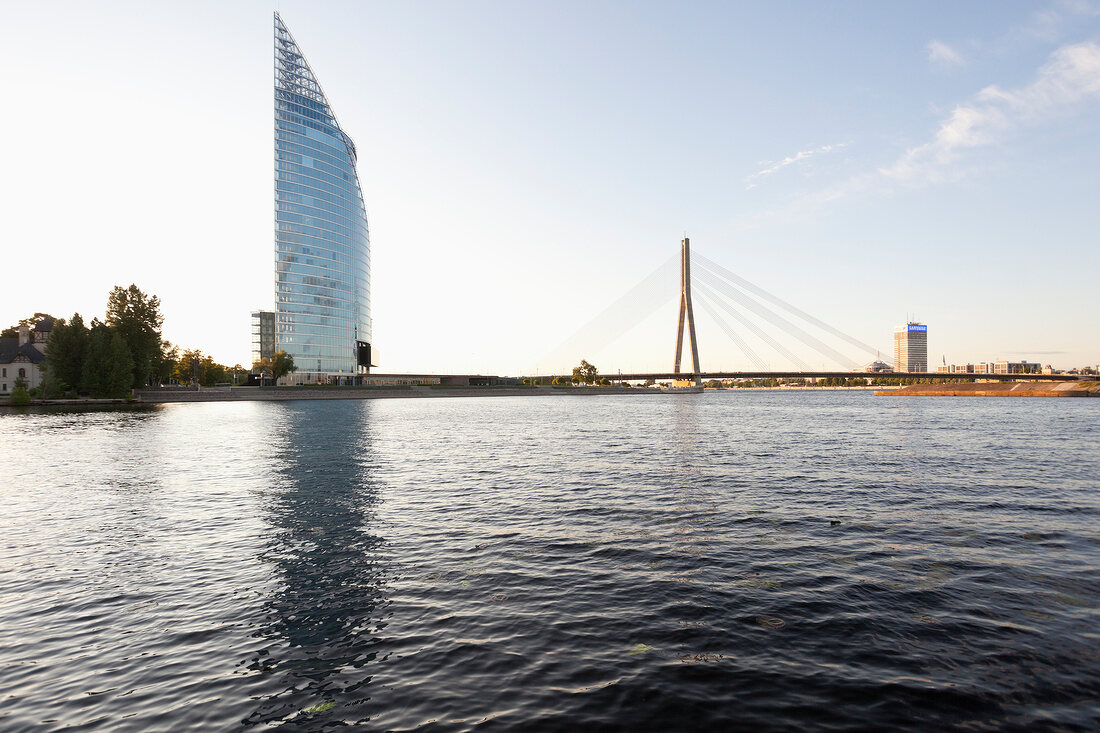
[[[881,349],[846,333],[824,320],[788,303],[779,296],[749,282],[717,262],[692,253],[688,238],[680,243],[680,256],[664,262],[651,275],[631,288],[581,328],[550,357],[557,363],[576,363],[582,357],[596,352],[615,341],[623,332],[648,318],[669,300],[672,270],[679,260],[680,315],[678,318],[675,351],[670,360],[671,371],[622,372],[605,371],[604,376],[623,381],[682,380],[700,384],[717,379],[798,379],[798,378],[853,378],[904,376],[910,379],[988,379],[988,380],[1065,380],[1064,374],[992,374],[944,372],[872,372],[862,366],[881,360]],[[693,303],[694,299],[694,303]],[[740,358],[751,364],[749,370],[712,369],[701,366],[698,339],[695,329],[694,306],[698,305],[738,350]],[[833,343],[826,341],[831,340]],[[791,348],[801,344],[801,353]],[[691,361],[682,366],[683,350],[691,351]],[[806,352],[822,359],[822,369],[815,369],[805,358]],[[854,357],[853,354],[858,354]],[[770,360],[778,358],[793,369],[773,370]],[[816,360],[815,360],[816,361]],[[825,363],[835,364],[827,369]],[[548,375],[542,375],[546,379]],[[553,376],[553,375],[549,375]],[[570,376],[570,374],[561,374]]]

